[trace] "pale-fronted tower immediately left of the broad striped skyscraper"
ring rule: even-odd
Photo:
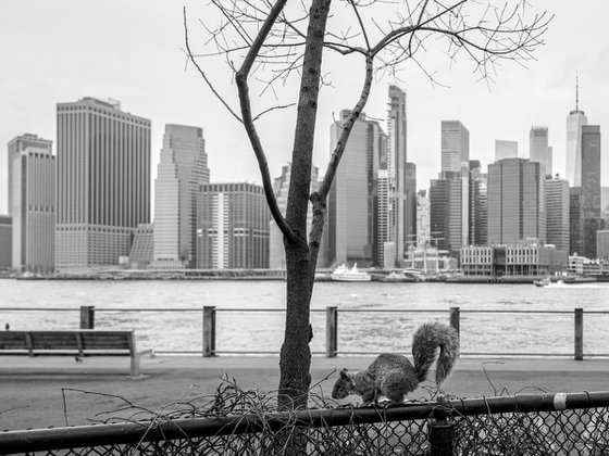
[[[55,157],[51,141],[20,141],[11,152],[12,267],[20,273],[49,274],[54,269]],[[44,145],[42,145],[44,144]]]

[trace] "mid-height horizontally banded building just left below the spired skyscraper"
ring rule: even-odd
[[[546,243],[569,251],[569,181],[546,179]]]

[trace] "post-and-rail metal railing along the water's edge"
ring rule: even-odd
[[[216,356],[222,354],[277,354],[278,352],[261,352],[260,350],[217,350],[216,341],[219,339],[219,332],[216,328],[217,314],[231,314],[231,313],[281,313],[285,314],[285,309],[281,308],[216,308],[214,306],[203,306],[203,307],[167,307],[167,308],[144,308],[144,307],[126,307],[126,308],[111,308],[111,307],[95,307],[95,306],[82,306],[79,309],[76,308],[61,308],[61,307],[0,307],[1,312],[74,312],[79,314],[79,327],[80,329],[95,329],[96,315],[101,313],[194,313],[199,314],[202,317],[202,355],[206,357]],[[575,308],[574,311],[515,311],[515,309],[461,309],[460,307],[450,307],[449,311],[446,309],[361,309],[361,308],[337,308],[335,306],[326,307],[325,309],[311,309],[312,314],[325,314],[325,346],[322,352],[315,352],[314,354],[324,354],[327,357],[334,357],[339,354],[375,354],[377,352],[349,352],[348,350],[341,349],[338,344],[338,334],[340,332],[340,321],[339,315],[348,314],[444,314],[448,313],[448,322],[457,329],[458,332],[461,330],[461,317],[465,315],[554,315],[554,316],[572,316],[573,317],[573,351],[571,353],[539,353],[539,352],[522,352],[517,353],[513,351],[501,353],[501,352],[463,352],[464,356],[572,356],[574,359],[581,360],[591,356],[609,356],[609,353],[585,353],[584,351],[584,316],[609,316],[609,312],[602,311],[585,311],[583,308]],[[201,353],[201,352],[163,352],[157,351],[157,353]]]

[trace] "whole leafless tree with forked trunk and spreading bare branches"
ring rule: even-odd
[[[493,0],[211,0],[222,20],[206,24],[206,46],[212,51],[195,53],[190,48],[186,11],[186,52],[210,90],[243,124],[262,176],[273,219],[284,236],[286,255],[286,324],[281,351],[279,405],[307,406],[310,387],[313,334],[310,302],[324,227],[326,200],[353,124],[364,109],[375,74],[395,77],[407,63],[414,63],[432,81],[425,65],[427,52],[444,52],[449,60],[465,56],[473,71],[488,81],[505,61],[525,64],[543,45],[551,17],[531,11],[526,0],[497,5]],[[332,11],[331,5],[335,7]],[[328,21],[328,17],[331,20]],[[304,28],[306,27],[306,28]],[[442,47],[442,48],[440,48]],[[322,56],[361,59],[362,88],[334,149],[319,191],[311,194],[313,139]],[[206,72],[206,59],[225,59],[238,90],[239,106],[220,93]],[[237,63],[238,62],[238,63]],[[256,74],[256,78],[252,76]],[[263,114],[291,104],[275,105],[254,115],[250,84],[262,92],[273,91],[290,76],[300,80],[296,129],[291,152],[291,177],[285,215],[273,193],[265,152],[257,130]],[[312,204],[313,221],[307,235],[307,212]]]

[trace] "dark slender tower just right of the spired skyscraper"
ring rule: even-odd
[[[602,229],[600,211],[600,127],[582,126],[582,215],[584,217],[584,252],[596,258],[596,231]]]

